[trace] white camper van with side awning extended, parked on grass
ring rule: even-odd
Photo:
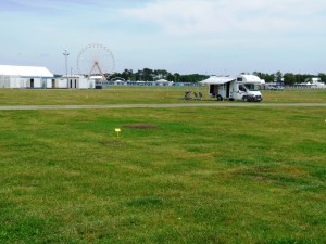
[[[221,101],[227,99],[230,101],[261,102],[263,100],[260,88],[264,80],[254,75],[211,76],[201,84],[209,85],[210,97]]]

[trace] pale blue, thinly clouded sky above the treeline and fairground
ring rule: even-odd
[[[325,0],[1,0],[0,64],[76,73],[108,47],[115,70],[326,73]],[[105,68],[103,68],[105,69]]]

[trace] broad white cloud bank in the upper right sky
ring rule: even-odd
[[[166,33],[288,31],[322,29],[319,0],[156,0],[123,14],[155,23]]]

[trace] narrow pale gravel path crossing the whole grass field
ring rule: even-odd
[[[278,107],[278,106],[326,106],[326,103],[175,103],[175,104],[114,104],[114,105],[26,105],[0,106],[0,111],[35,111],[35,110],[111,110],[143,107]]]

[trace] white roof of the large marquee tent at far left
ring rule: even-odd
[[[3,76],[27,76],[27,77],[53,77],[46,67],[0,65],[0,75]]]

